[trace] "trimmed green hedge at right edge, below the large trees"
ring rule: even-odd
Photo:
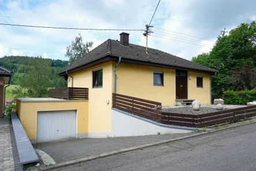
[[[248,102],[256,101],[256,89],[244,91],[225,91],[223,93],[226,105],[246,105]]]

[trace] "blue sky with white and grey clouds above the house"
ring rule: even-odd
[[[0,0],[0,23],[47,27],[145,29],[158,0]],[[256,20],[256,1],[161,0],[148,46],[191,60],[209,52],[220,31]],[[68,60],[66,46],[81,34],[95,47],[120,40],[123,31],[81,31],[0,25],[0,57],[41,56]],[[126,31],[129,42],[146,46],[143,31]],[[159,38],[161,37],[161,38]],[[200,39],[199,39],[200,38]],[[186,43],[184,43],[186,42]]]

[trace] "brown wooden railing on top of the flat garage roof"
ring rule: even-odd
[[[49,97],[66,100],[88,100],[88,88],[65,87],[50,89]]]

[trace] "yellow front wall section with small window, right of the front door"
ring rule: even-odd
[[[210,75],[204,73],[188,72],[188,99],[195,99],[201,104],[210,104]],[[196,87],[196,76],[203,77],[203,88]]]

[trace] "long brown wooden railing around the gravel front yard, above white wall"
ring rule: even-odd
[[[205,127],[256,115],[256,106],[216,111],[205,114],[181,114],[161,111],[162,104],[121,94],[112,95],[113,107],[167,125]]]

